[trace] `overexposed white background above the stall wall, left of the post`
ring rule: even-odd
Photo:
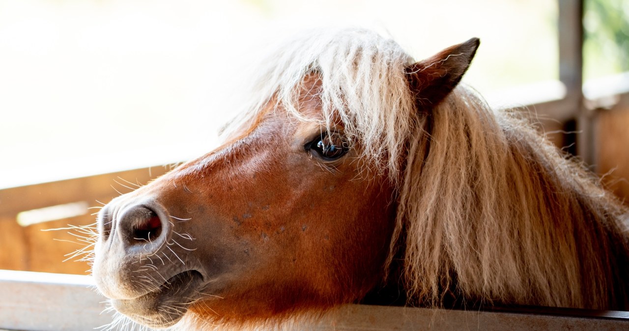
[[[267,39],[387,31],[417,59],[481,38],[488,95],[557,79],[557,4],[482,1],[0,0],[0,188],[188,160],[233,116]]]

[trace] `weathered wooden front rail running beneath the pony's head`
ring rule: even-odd
[[[0,328],[91,330],[111,322],[90,276],[0,270]],[[345,305],[289,330],[629,330],[629,312],[530,308],[464,311]]]

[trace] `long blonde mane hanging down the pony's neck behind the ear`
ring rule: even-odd
[[[464,88],[429,121],[430,136],[412,139],[394,236],[411,298],[627,307],[627,210],[592,175]]]

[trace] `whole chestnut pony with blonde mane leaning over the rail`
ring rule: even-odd
[[[362,29],[243,77],[223,143],[97,217],[92,274],[134,322],[281,325],[343,303],[629,308],[626,207],[517,111]]]

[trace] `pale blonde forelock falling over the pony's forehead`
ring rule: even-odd
[[[228,135],[255,119],[272,97],[276,106],[303,121],[299,94],[304,77],[319,75],[317,91],[324,120],[343,122],[348,141],[360,141],[362,157],[375,170],[400,172],[405,141],[419,116],[408,89],[404,68],[413,59],[397,43],[367,30],[316,30],[273,45],[274,52],[256,63],[243,111],[224,130]],[[398,180],[398,178],[393,178]]]

